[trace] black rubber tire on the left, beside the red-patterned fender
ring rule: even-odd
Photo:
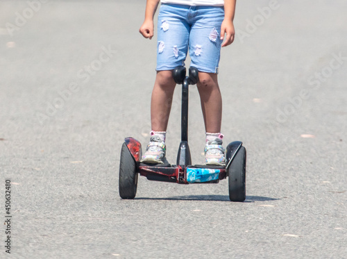
[[[121,199],[134,199],[137,190],[136,162],[126,143],[121,146],[121,160],[119,162],[119,196]]]

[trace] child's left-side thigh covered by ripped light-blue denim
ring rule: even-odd
[[[158,15],[157,71],[183,65],[187,57],[189,25],[185,10],[162,5]]]

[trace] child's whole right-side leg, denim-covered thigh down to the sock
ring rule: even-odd
[[[219,7],[199,6],[189,35],[189,55],[192,66],[199,71],[198,92],[208,133],[221,132],[222,101],[217,73],[221,53],[221,22],[224,10]]]

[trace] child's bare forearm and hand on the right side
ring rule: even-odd
[[[224,34],[226,38],[221,44],[221,47],[226,47],[234,41],[235,28],[232,21],[235,15],[236,0],[224,0],[224,20],[221,24],[221,40],[224,40]]]

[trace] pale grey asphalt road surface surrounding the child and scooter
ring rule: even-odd
[[[0,2],[0,257],[347,258],[346,1],[238,1],[219,83],[225,143],[248,151],[244,203],[228,201],[228,181],[139,178],[136,199],[119,198],[124,137],[146,145],[150,131],[144,7]],[[180,90],[171,162],[179,140]],[[202,162],[194,87],[189,143]]]

